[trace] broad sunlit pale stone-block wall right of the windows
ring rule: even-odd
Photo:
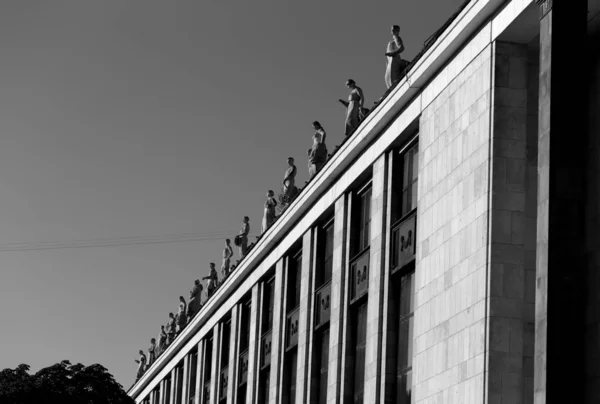
[[[416,404],[484,400],[491,74],[489,45],[420,117]]]

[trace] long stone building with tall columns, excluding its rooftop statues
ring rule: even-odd
[[[463,5],[129,394],[600,402],[598,13]]]

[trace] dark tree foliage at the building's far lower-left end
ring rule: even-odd
[[[2,404],[135,404],[102,365],[62,361],[29,374],[29,365],[0,372]]]

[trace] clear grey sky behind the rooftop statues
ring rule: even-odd
[[[128,388],[288,156],[307,179],[312,121],[341,142],[345,80],[383,93],[390,25],[410,59],[462,2],[2,0],[0,369],[101,363]]]

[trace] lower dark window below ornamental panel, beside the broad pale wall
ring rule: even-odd
[[[410,404],[412,386],[414,271],[400,277],[398,299],[398,359],[396,369],[396,397],[400,404]]]

